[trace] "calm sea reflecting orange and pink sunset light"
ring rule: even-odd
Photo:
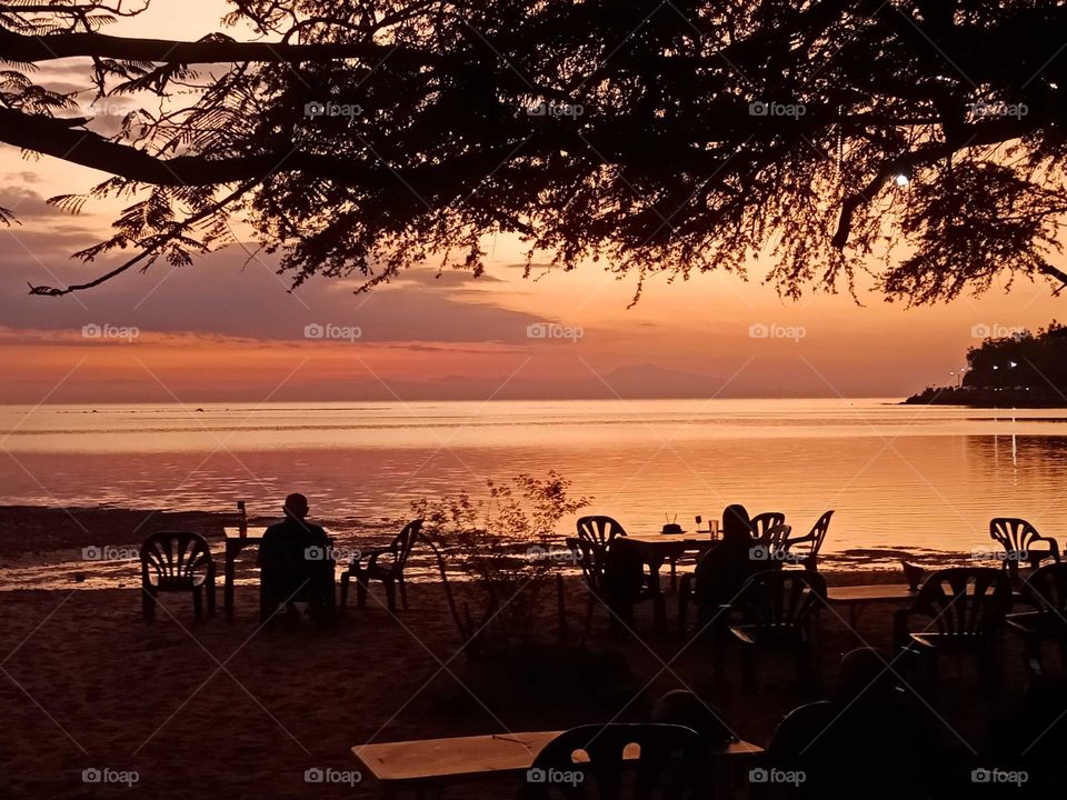
[[[302,491],[331,520],[555,469],[631,531],[741,502],[827,551],[986,547],[994,516],[1063,537],[1067,410],[895,400],[44,406],[0,408],[0,503],[273,513]],[[570,522],[562,526],[570,529]]]

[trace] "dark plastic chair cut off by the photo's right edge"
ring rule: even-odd
[[[1036,678],[1044,673],[1041,642],[1055,641],[1067,667],[1067,563],[1051,563],[1034,570],[1023,582],[1019,602],[1028,611],[1009,613],[1008,629],[1023,637],[1027,667]]]

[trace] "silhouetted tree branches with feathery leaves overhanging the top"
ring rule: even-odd
[[[438,258],[480,272],[500,232],[529,263],[642,279],[755,261],[790,296],[862,270],[917,302],[1067,286],[1067,8],[1051,0],[229,9],[179,42],[107,34],[141,11],[123,0],[0,4],[0,141],[112,176],[62,208],[129,198],[78,256],[132,257],[31,292],[188,263],[236,221],[295,286],[369,288]],[[225,32],[238,24],[255,40]],[[117,132],[34,81],[76,57],[99,100],[142,106]]]

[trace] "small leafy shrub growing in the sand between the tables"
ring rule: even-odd
[[[572,497],[570,488],[571,481],[550,470],[544,478],[487,479],[479,497],[459,491],[411,503],[412,514],[423,520],[422,537],[437,557],[468,653],[477,653],[487,639],[518,643],[536,636],[545,589],[575,566],[576,556],[561,547],[556,528],[590,501]],[[461,610],[457,604],[456,577],[473,599],[475,613],[470,603]]]

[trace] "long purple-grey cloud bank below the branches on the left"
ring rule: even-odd
[[[306,328],[318,324],[358,329],[358,338],[366,342],[528,346],[527,327],[542,321],[471,289],[470,276],[449,272],[438,282],[435,270],[412,269],[397,283],[368,294],[353,294],[351,281],[327,279],[312,279],[290,292],[288,278],[277,274],[275,262],[256,259],[245,266],[247,256],[238,248],[180,269],[161,261],[147,273],[130,272],[68,297],[27,296],[27,280],[61,284],[109,268],[108,262],[87,266],[66,258],[81,234],[78,230],[17,234],[18,241],[0,256],[3,324],[73,330],[94,322],[136,326],[146,333],[271,342],[305,342]]]

